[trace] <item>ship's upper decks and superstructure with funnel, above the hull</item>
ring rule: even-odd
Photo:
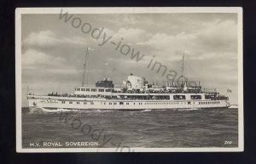
[[[189,86],[188,82],[166,82],[166,86],[156,86],[149,84],[145,78],[138,76],[128,76],[126,82],[123,82],[122,88],[115,88],[113,82],[109,79],[96,82],[95,87],[82,86],[75,88],[73,94],[54,94],[49,96],[65,96],[78,98],[101,98],[101,99],[172,99],[172,100],[190,100],[190,99],[228,99],[214,90],[204,90],[198,82],[195,86]]]

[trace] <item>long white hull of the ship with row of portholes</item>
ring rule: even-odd
[[[169,110],[228,108],[227,100],[125,100],[76,97],[29,96],[29,107],[71,110]]]

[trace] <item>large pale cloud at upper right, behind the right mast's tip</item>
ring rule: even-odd
[[[237,26],[233,20],[219,21],[203,25],[204,29],[192,33],[155,33],[138,46],[150,49],[152,54],[162,59],[181,59],[183,51],[189,51],[191,59],[211,59],[221,54],[232,54],[236,58]],[[148,35],[150,36],[150,35]],[[148,50],[149,51],[149,50]]]

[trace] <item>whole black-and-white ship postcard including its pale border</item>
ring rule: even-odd
[[[241,8],[16,8],[17,152],[243,151]]]

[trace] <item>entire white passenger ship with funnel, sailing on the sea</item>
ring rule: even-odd
[[[86,72],[85,56],[84,77]],[[184,56],[183,56],[184,57]],[[44,109],[79,110],[160,110],[160,109],[207,109],[228,108],[229,98],[216,90],[202,89],[200,82],[190,86],[188,82],[166,82],[158,87],[149,84],[144,77],[129,75],[123,87],[114,87],[106,78],[96,82],[95,87],[81,87],[73,94],[49,93],[48,95],[27,94],[29,107]]]

